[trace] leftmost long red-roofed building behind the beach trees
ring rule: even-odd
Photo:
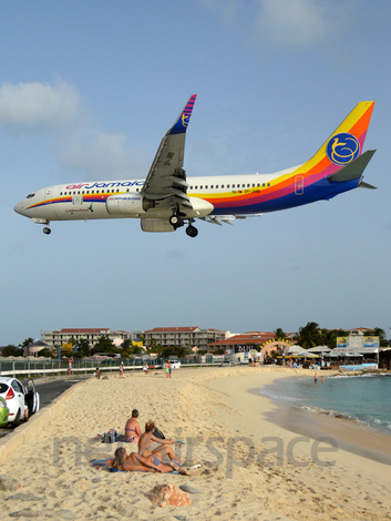
[[[85,338],[90,346],[94,346],[101,337],[109,338],[112,341],[117,339],[135,340],[136,335],[134,333],[117,330],[112,331],[107,327],[96,328],[63,328],[60,331],[45,331],[41,334],[41,339],[49,346],[68,346],[72,341],[72,338],[76,341]]]

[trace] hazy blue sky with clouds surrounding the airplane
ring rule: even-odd
[[[391,337],[387,0],[40,0],[0,17],[0,346],[62,328],[231,333],[381,327]],[[60,183],[145,178],[197,94],[188,176],[303,163],[375,101],[375,191],[217,226],[151,234],[137,219],[13,212]]]

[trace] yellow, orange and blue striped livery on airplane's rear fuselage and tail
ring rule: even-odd
[[[332,183],[328,177],[361,153],[373,105],[373,101],[358,103],[313,157],[299,167],[268,176],[269,181],[265,187],[257,186],[259,183],[248,183],[243,190],[202,195],[195,192],[189,195],[200,196],[212,203],[215,207],[214,215],[248,215],[329,200],[356,188],[360,180]]]

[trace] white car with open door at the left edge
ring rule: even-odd
[[[17,378],[0,376],[0,397],[7,402],[10,410],[8,421],[13,427],[18,427],[22,418],[28,419],[40,409],[40,395],[32,380],[24,387]]]

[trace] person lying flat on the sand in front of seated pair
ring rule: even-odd
[[[116,449],[114,453],[114,460],[112,467],[119,470],[127,471],[138,471],[138,472],[162,472],[167,473],[173,470],[178,471],[183,476],[193,476],[194,472],[191,470],[184,469],[173,461],[169,464],[162,463],[162,461],[156,458],[156,456],[150,454],[146,458],[137,454],[136,452],[131,452],[128,456],[123,447]]]

